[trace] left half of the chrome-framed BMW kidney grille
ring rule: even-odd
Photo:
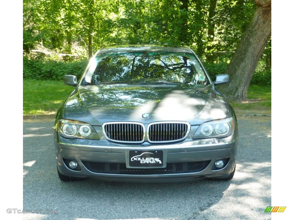
[[[142,143],[145,139],[145,127],[137,122],[107,122],[102,132],[109,141],[122,143]]]

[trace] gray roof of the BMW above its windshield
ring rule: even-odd
[[[97,51],[98,54],[101,53],[116,53],[116,52],[144,52],[144,51],[154,51],[154,52],[180,52],[180,53],[191,53],[192,50],[188,47],[173,47],[168,45],[122,45],[122,46],[112,46],[101,48]],[[97,54],[96,53],[96,54]]]

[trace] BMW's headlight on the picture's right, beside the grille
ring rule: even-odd
[[[224,138],[230,136],[235,129],[233,117],[216,121],[209,121],[199,126],[193,139]]]

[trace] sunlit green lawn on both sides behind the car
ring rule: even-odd
[[[74,87],[63,81],[23,80],[23,114],[56,113]],[[271,87],[252,85],[248,90],[248,100],[232,102],[235,111],[270,111]]]

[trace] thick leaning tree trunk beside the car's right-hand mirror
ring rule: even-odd
[[[227,99],[234,101],[247,99],[257,62],[271,35],[271,0],[255,0],[255,4],[257,9],[226,71],[230,81],[220,88]]]

